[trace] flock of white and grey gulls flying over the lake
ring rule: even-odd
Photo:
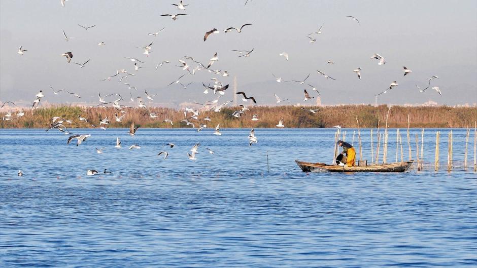
[[[62,7],[65,7],[65,1],[67,1],[67,0],[60,0],[60,3],[61,3]],[[248,1],[246,1],[245,5],[247,5],[247,3],[248,3]],[[182,0],[178,4],[172,4],[172,5],[175,6],[176,9],[180,10],[180,12],[182,12],[182,13],[174,14],[173,12],[171,12],[171,14],[162,14],[160,16],[170,17],[174,21],[178,20],[181,17],[189,16],[188,14],[185,13],[186,9],[189,8],[189,5],[184,4],[184,2]],[[349,19],[353,20],[353,21],[356,21],[357,24],[358,24],[357,26],[360,26],[360,22],[357,18],[355,18],[353,16],[347,16],[347,17]],[[78,24],[78,26],[83,28],[84,30],[88,30],[88,29],[94,28],[96,25],[83,26],[83,25]],[[317,31],[306,34],[306,37],[308,37],[308,39],[309,39],[309,43],[315,43],[316,42],[317,36],[322,34],[323,26],[324,26],[324,24],[322,24],[318,28]],[[228,32],[242,33],[242,32],[246,32],[249,27],[253,27],[253,23],[245,23],[243,25],[240,25],[240,27],[239,26],[228,27],[228,28],[224,29],[223,31],[224,31],[224,33],[228,33]],[[162,28],[162,29],[157,30],[155,32],[147,33],[147,35],[155,37],[155,36],[160,35],[160,33],[163,30],[165,30],[165,28]],[[75,39],[75,37],[71,37],[71,36],[67,35],[64,30],[62,31],[62,33],[63,33],[63,37],[64,37],[65,42],[69,42],[69,41],[72,41],[72,40]],[[215,27],[212,28],[211,30],[206,31],[204,36],[203,36],[203,42],[207,42],[207,40],[209,40],[215,34],[218,34],[218,33],[220,33],[220,30],[218,30]],[[97,45],[98,46],[105,46],[106,43],[105,42],[100,42],[100,43],[97,43]],[[143,49],[144,50],[143,54],[146,55],[146,57],[147,57],[152,52],[153,45],[154,45],[154,42],[151,42],[148,45],[140,46],[138,48]],[[27,52],[27,51],[28,50],[26,50],[22,46],[20,46],[18,48],[17,53],[21,56],[24,56],[25,52]],[[246,49],[246,50],[230,50],[230,52],[237,53],[238,58],[248,58],[248,57],[253,56],[254,48]],[[60,54],[60,56],[65,57],[67,63],[71,63],[73,61],[73,58],[74,58],[74,55],[73,55],[72,52],[65,52],[65,53]],[[289,55],[288,55],[287,52],[282,52],[278,56],[283,57],[287,61],[289,59]],[[106,78],[104,78],[100,81],[111,81],[115,76],[120,75],[119,80],[118,80],[119,83],[122,83],[123,85],[127,86],[127,88],[129,90],[134,90],[134,91],[130,91],[131,102],[137,102],[137,107],[139,107],[140,109],[144,109],[147,112],[147,114],[149,115],[150,118],[158,118],[159,115],[157,113],[153,112],[153,111],[150,111],[148,105],[146,103],[144,103],[143,97],[141,97],[141,96],[134,97],[132,95],[132,92],[135,92],[138,89],[135,86],[131,85],[128,81],[128,78],[130,76],[136,76],[138,74],[140,69],[143,68],[142,64],[145,63],[145,62],[136,58],[136,57],[124,57],[124,59],[129,60],[133,63],[132,67],[134,68],[134,72],[129,72],[126,69],[118,69],[118,70],[116,70],[116,72],[114,74],[109,75],[109,76],[107,76]],[[378,61],[379,65],[386,64],[385,58],[383,56],[381,56],[380,54],[374,54],[370,57],[370,59],[371,60],[376,59]],[[85,60],[85,61],[80,61],[80,62],[74,62],[73,61],[73,63],[77,64],[80,68],[85,68],[85,67],[87,67],[87,64],[90,62],[90,60],[91,59],[88,59],[88,60]],[[202,63],[198,60],[195,60],[193,57],[190,57],[190,56],[184,56],[184,57],[178,59],[178,65],[176,65],[176,66],[179,67],[180,70],[182,72],[185,72],[185,73],[182,73],[181,75],[179,75],[179,77],[175,81],[172,81],[171,83],[169,83],[167,85],[167,87],[180,85],[180,86],[182,86],[183,88],[186,89],[192,83],[192,82],[190,82],[190,83],[185,82],[185,80],[187,79],[186,75],[194,75],[198,71],[209,72],[216,77],[211,79],[213,81],[212,84],[207,83],[207,85],[206,85],[206,83],[202,83],[203,93],[204,94],[209,94],[209,91],[212,91],[213,94],[217,97],[215,97],[212,100],[209,100],[209,101],[206,101],[206,102],[203,102],[203,103],[196,103],[196,104],[201,105],[203,110],[220,112],[222,108],[224,108],[225,106],[230,104],[232,101],[227,100],[225,102],[219,103],[219,99],[225,94],[225,91],[228,89],[229,85],[222,82],[220,79],[217,78],[217,76],[220,75],[220,76],[222,76],[222,78],[226,78],[227,76],[229,76],[229,72],[227,70],[212,69],[211,67],[217,61],[219,61],[218,53],[215,53],[214,55],[212,55],[212,57],[210,58],[210,60],[207,64],[204,64],[204,63]],[[160,63],[158,63],[156,65],[155,70],[157,70],[160,66],[163,66],[164,64],[171,64],[171,61],[168,61],[168,60],[161,61]],[[328,60],[327,64],[335,64],[335,62],[332,61],[332,60]],[[192,65],[195,65],[195,67],[192,67]],[[411,69],[408,69],[405,66],[402,66],[402,68],[403,68],[403,76],[409,75],[413,72]],[[361,67],[357,67],[355,70],[353,70],[353,72],[355,72],[357,74],[357,77],[358,77],[359,80],[361,80],[361,78],[362,78],[362,76],[361,76],[362,71],[363,71],[363,69]],[[322,75],[325,79],[330,79],[330,80],[333,80],[333,81],[336,80],[332,76],[330,76],[330,75],[328,75],[328,74],[326,74],[326,73],[324,73],[320,70],[316,70],[316,72],[317,72],[317,74]],[[303,80],[291,80],[291,81],[287,81],[282,77],[276,76],[274,73],[271,73],[271,74],[275,77],[275,81],[277,83],[297,83],[298,85],[305,85],[306,87],[308,87],[309,90],[316,91],[318,95],[320,94],[320,92],[316,89],[316,87],[314,87],[313,85],[308,84],[308,82],[306,82],[306,80],[309,79],[311,73],[306,75],[306,77]],[[421,89],[418,85],[416,85],[416,87],[419,89],[420,92],[424,92],[428,88],[431,88],[431,89],[434,89],[436,92],[438,92],[440,95],[442,95],[439,87],[437,87],[437,86],[431,87],[431,81],[434,80],[434,79],[438,79],[438,76],[433,75],[431,78],[429,78],[428,79],[428,86],[424,89]],[[393,88],[395,88],[397,86],[398,86],[398,83],[396,81],[393,81],[392,83],[390,83],[389,88],[387,88],[386,90],[384,90],[383,92],[381,92],[379,94],[376,94],[376,96],[379,96],[381,94],[385,94],[385,93],[389,92],[390,90],[392,90]],[[64,90],[64,89],[55,90],[55,89],[53,89],[53,87],[51,87],[51,90],[53,91],[54,95],[59,95],[61,92],[65,91],[67,94],[70,94],[73,97],[81,98],[80,94],[74,93],[74,92],[69,92],[69,91]],[[146,90],[144,91],[144,93],[145,93],[145,97],[149,101],[153,101],[154,97],[156,96],[156,94],[150,94]],[[253,102],[255,104],[257,103],[255,97],[250,96],[250,93],[236,92],[236,94],[240,95],[244,102],[248,102],[250,100],[251,102]],[[280,102],[288,100],[288,99],[281,99],[275,93],[274,93],[274,96],[276,98],[276,103],[280,103]],[[314,96],[311,96],[306,89],[303,90],[303,96],[304,96],[303,101],[308,101],[308,100],[311,100],[311,99],[315,98]],[[31,108],[32,109],[38,108],[39,105],[40,105],[41,100],[44,97],[45,97],[44,92],[42,90],[40,90],[40,92],[37,95],[35,95],[35,100],[31,104]],[[116,98],[111,99],[111,100],[107,100],[107,98],[109,98],[109,97],[116,97]],[[107,94],[105,96],[101,96],[101,94],[98,93],[98,98],[99,98],[99,104],[96,105],[96,106],[106,107],[107,104],[111,104],[111,107],[113,107],[115,109],[115,111],[116,111],[115,119],[114,119],[115,122],[122,122],[121,120],[124,118],[125,114],[127,113],[127,108],[132,108],[130,106],[121,104],[121,102],[124,101],[124,98],[118,93]],[[16,106],[16,104],[14,102],[6,101],[2,104],[2,107],[4,107],[6,104],[9,104],[9,103]],[[318,109],[305,109],[303,107],[301,109],[303,109],[305,111],[308,111],[308,112],[311,112],[311,113],[316,113],[318,111]],[[247,110],[249,110],[249,108],[247,106],[240,105],[240,109],[235,110],[231,114],[231,117],[240,118],[246,113]],[[20,110],[16,114],[16,118],[20,118],[23,115],[24,115],[23,110]],[[199,118],[199,117],[200,117],[200,112],[199,112],[198,109],[185,108],[184,109],[184,120],[182,120],[181,123],[184,123],[186,126],[191,126],[194,129],[197,126],[197,132],[198,132],[198,131],[201,131],[202,129],[207,128],[208,127],[207,126],[208,122],[211,121],[211,119],[209,117],[205,117],[205,118]],[[13,114],[11,112],[8,112],[3,117],[3,120],[13,121],[13,120],[15,120],[15,116],[13,116]],[[98,123],[90,122],[89,119],[86,119],[82,116],[78,116],[78,120],[89,124],[91,127],[101,128],[101,129],[106,129],[106,127],[110,124],[110,120],[108,118],[99,119]],[[258,114],[253,114],[251,120],[252,121],[258,121],[259,120]],[[56,129],[60,132],[63,132],[64,134],[70,135],[69,138],[67,139],[66,143],[70,144],[71,141],[76,140],[76,145],[78,146],[82,142],[86,141],[91,136],[91,134],[71,133],[65,127],[64,123],[70,123],[71,124],[72,122],[73,121],[71,119],[63,119],[61,117],[54,117],[54,118],[52,118],[51,126],[48,128],[48,130]],[[170,120],[170,119],[164,119],[163,122],[166,123],[166,124],[171,124],[171,125],[174,124],[173,121]],[[97,125],[95,125],[95,124],[97,124]],[[276,127],[278,127],[278,128],[284,128],[285,127],[283,118],[280,119],[280,121],[276,125]],[[335,127],[340,128],[340,126],[335,126]],[[135,136],[138,128],[139,127],[134,126],[134,123],[131,123],[130,129],[129,129],[129,135]],[[213,134],[218,135],[218,136],[222,135],[221,132],[220,132],[220,123],[218,123],[216,125],[215,132]],[[249,146],[251,146],[252,144],[257,143],[257,141],[258,141],[257,137],[255,136],[254,129],[251,129],[250,135],[247,138],[249,140]],[[168,144],[168,145],[171,148],[174,147],[173,143]],[[187,153],[188,158],[190,160],[196,160],[196,154],[197,154],[197,150],[198,150],[199,145],[200,145],[199,143],[195,144],[192,147],[192,149],[190,150],[191,152]],[[120,140],[119,137],[116,139],[116,146],[115,147],[116,148],[121,148],[121,140]],[[140,148],[141,148],[141,146],[138,145],[138,144],[132,144],[132,145],[129,146],[129,149],[140,149]],[[96,148],[96,151],[97,151],[98,154],[103,154],[104,149],[105,148]],[[214,154],[213,150],[208,149],[208,151],[211,154]],[[168,155],[169,155],[169,153],[167,151],[160,151],[159,154],[158,154],[158,156],[163,157],[163,160],[167,159]],[[97,174],[97,173],[98,172],[95,171],[95,170],[88,170],[88,175],[94,175],[94,174]],[[105,173],[106,173],[106,170],[105,170]],[[22,172],[19,171],[18,175],[21,175],[21,174],[22,174]]]

